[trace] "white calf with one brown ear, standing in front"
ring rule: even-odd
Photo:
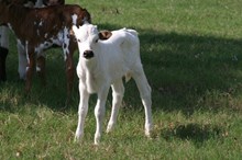
[[[108,33],[108,37],[110,37],[106,41],[100,41],[97,26],[88,23],[79,26],[79,28],[74,25],[73,31],[79,48],[77,75],[80,99],[75,140],[79,140],[84,134],[89,95],[97,93],[95,144],[99,144],[110,85],[113,99],[107,132],[112,130],[123,99],[122,77],[124,76],[127,81],[132,77],[136,82],[145,111],[145,135],[150,136],[152,129],[151,88],[141,64],[140,41],[136,31],[127,28],[112,31]]]

